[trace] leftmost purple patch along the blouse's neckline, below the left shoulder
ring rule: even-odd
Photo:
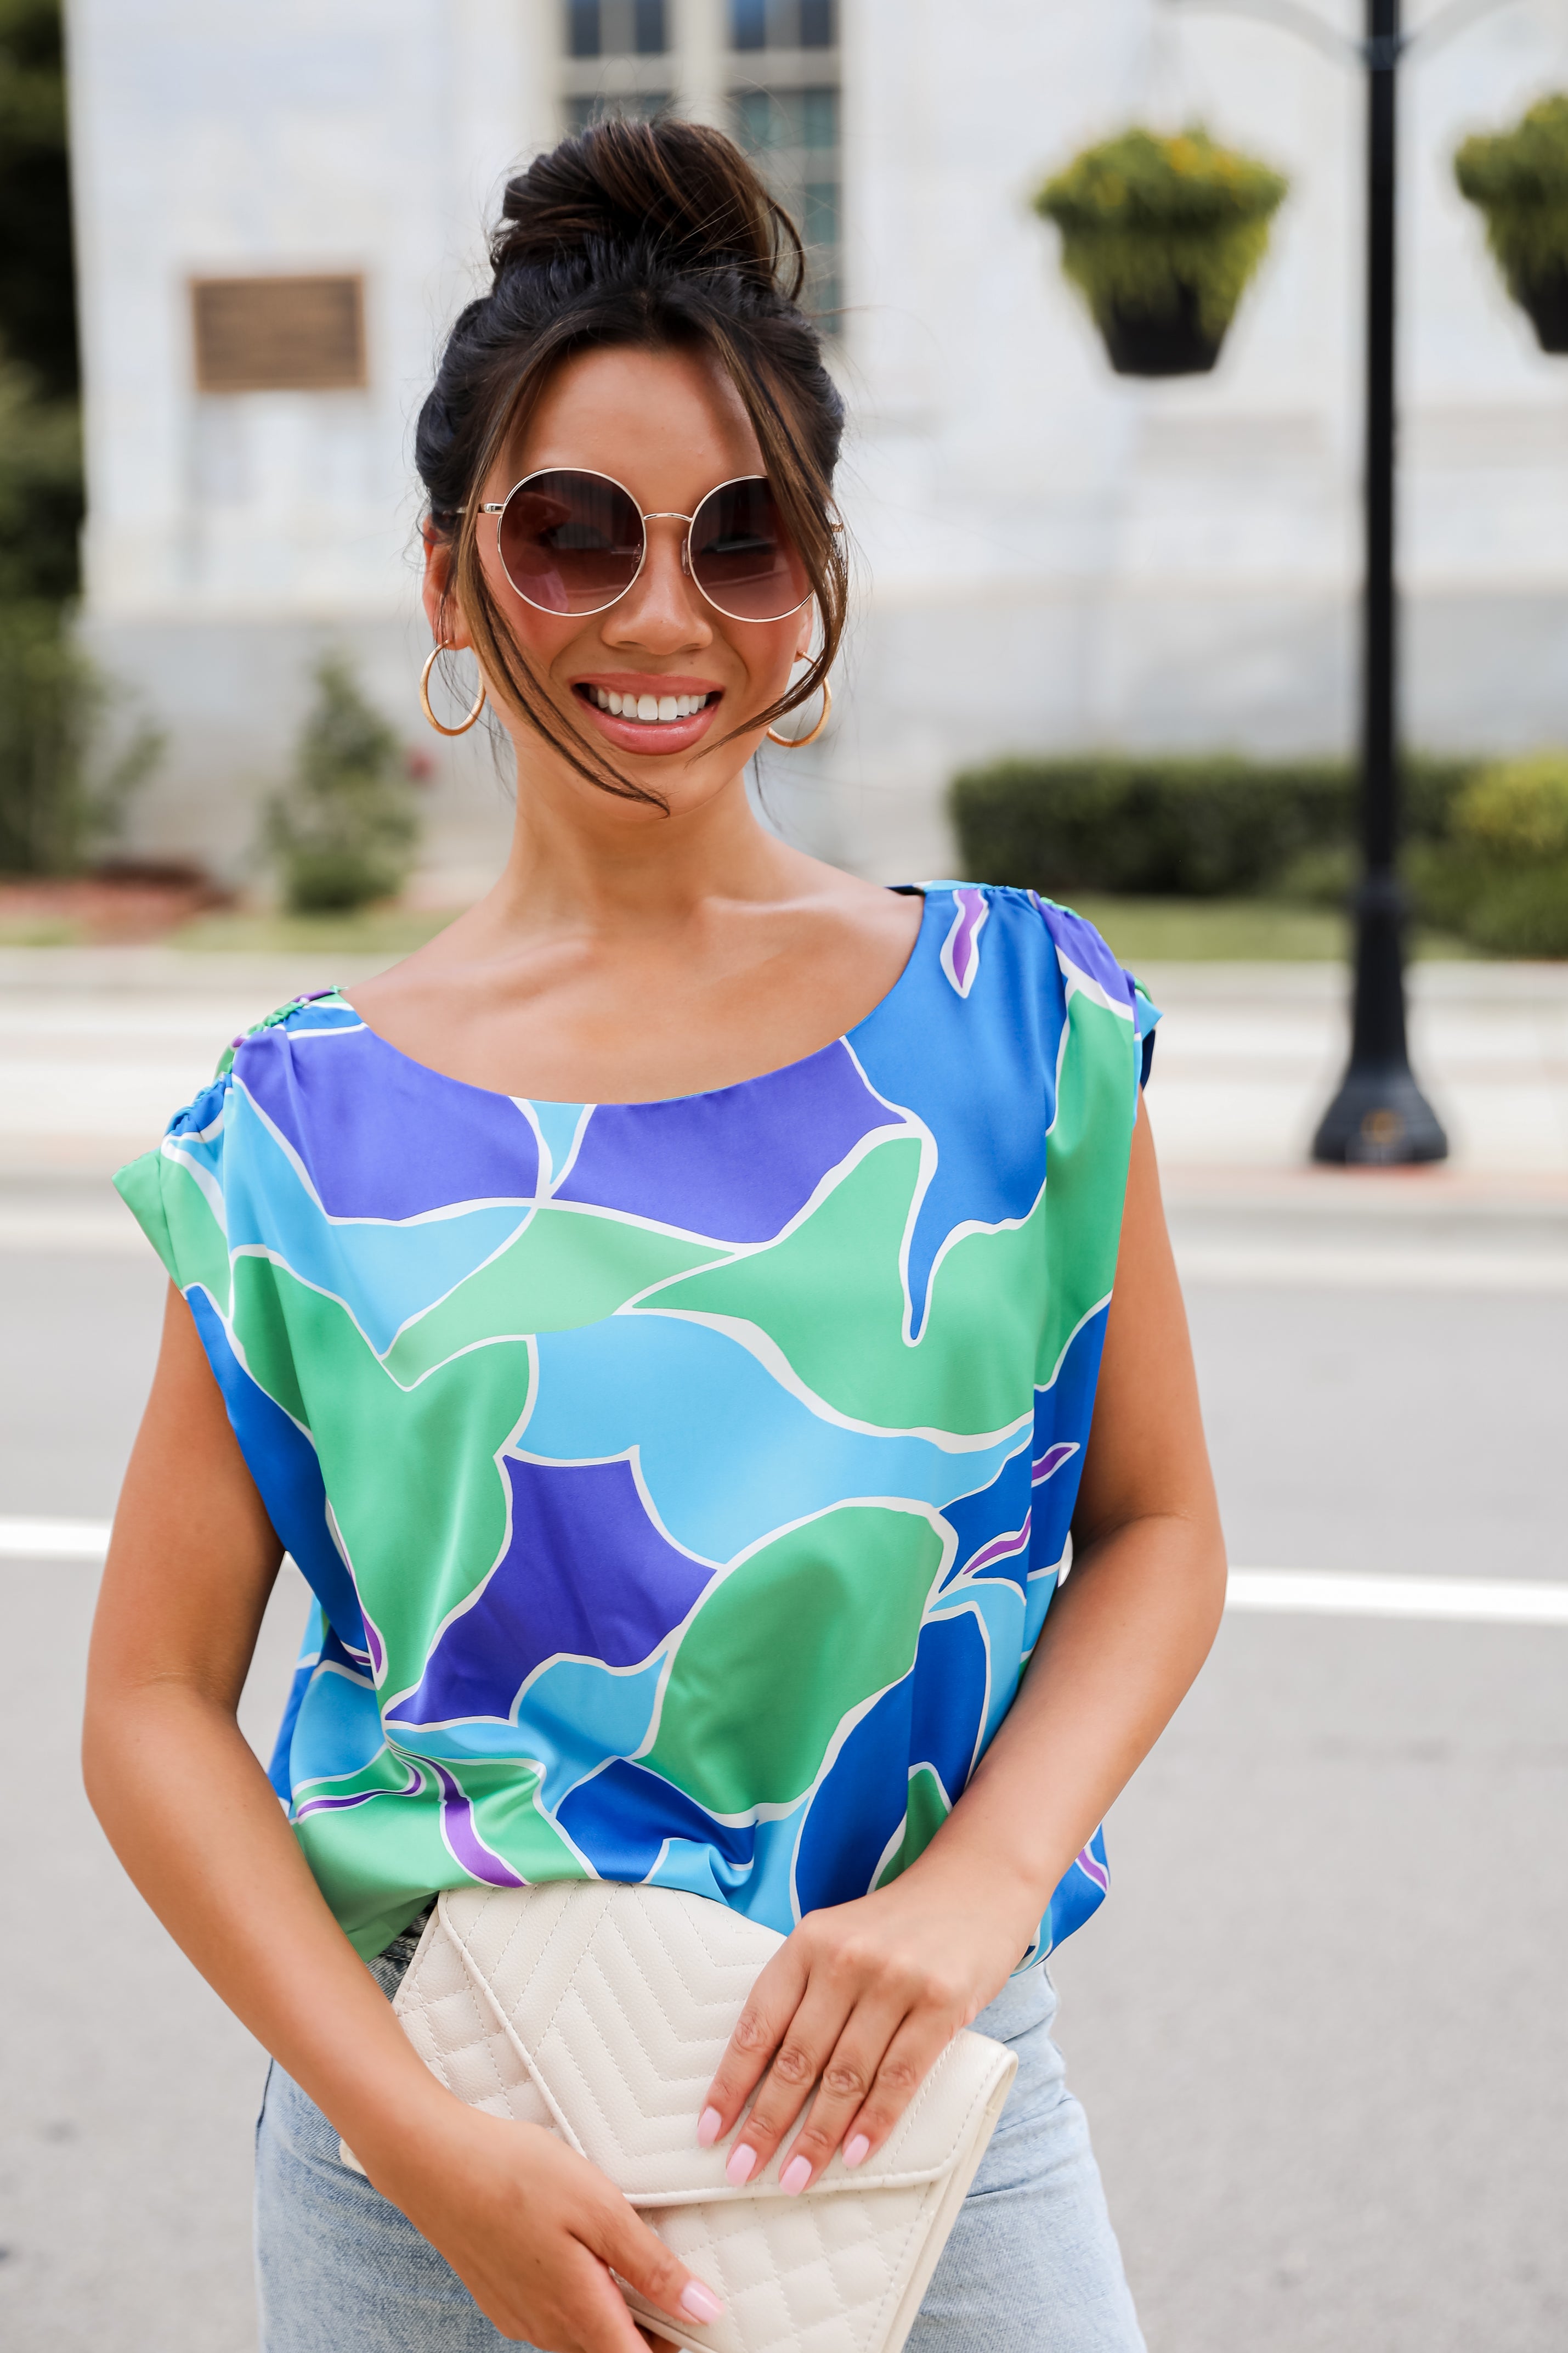
[[[294,1146],[327,1217],[531,1200],[538,1141],[510,1094],[425,1071],[367,1028],[256,1031],[235,1078]]]

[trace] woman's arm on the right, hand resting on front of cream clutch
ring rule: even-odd
[[[771,2158],[818,2075],[780,2177],[790,2188],[839,2144],[858,2165],[889,2137],[1027,1951],[1053,1887],[1204,1664],[1222,1605],[1225,1539],[1140,1104],[1072,1577],[919,1861],[870,1897],[811,1913],[757,1979],[698,2127],[703,2141],[729,2132],[766,2071],[733,2179]]]

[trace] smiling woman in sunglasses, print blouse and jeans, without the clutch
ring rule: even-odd
[[[922,2353],[1140,2341],[1037,1962],[1222,1595],[1152,1014],[1074,915],[875,889],[748,807],[844,628],[799,275],[708,129],[604,125],[510,184],[418,424],[510,861],[240,1040],[120,1179],[176,1289],[87,1781],[273,2052],[268,2353],[635,2353],[611,2266],[717,2318],[386,2000],[437,1889],[595,1873],[790,1932],[691,2118],[731,2179],[860,2162],[961,2024],[1013,2040]],[[317,1595],[287,1814],[235,1725],[284,1546]]]

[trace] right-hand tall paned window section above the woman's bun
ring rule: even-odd
[[[839,73],[830,0],[731,0],[731,127],[806,247],[806,304],[839,308]]]

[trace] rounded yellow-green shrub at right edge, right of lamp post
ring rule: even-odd
[[[1500,760],[1418,861],[1422,906],[1493,955],[1568,955],[1568,753]]]

